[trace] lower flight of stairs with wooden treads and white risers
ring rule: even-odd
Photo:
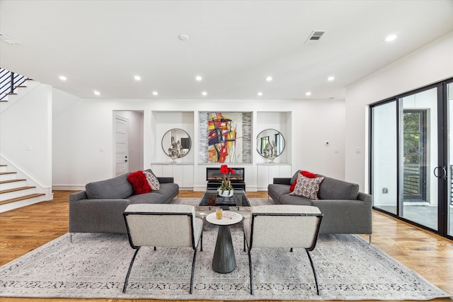
[[[16,172],[8,171],[7,165],[0,165],[0,212],[8,210],[5,204],[21,201],[22,204],[34,204],[42,201],[40,197],[44,196],[36,192],[36,187],[27,186],[27,180],[17,178]]]

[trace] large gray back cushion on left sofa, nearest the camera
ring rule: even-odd
[[[127,180],[127,175],[129,173],[86,184],[86,196],[88,199],[124,199],[130,197],[134,194],[134,188]]]

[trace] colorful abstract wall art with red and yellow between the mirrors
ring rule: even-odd
[[[251,163],[251,112],[200,112],[200,161]]]

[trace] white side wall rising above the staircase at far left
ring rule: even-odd
[[[39,84],[11,96],[1,112],[0,153],[37,183],[38,192],[52,186],[52,87]]]

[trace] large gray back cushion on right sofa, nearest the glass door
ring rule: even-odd
[[[357,199],[359,185],[335,178],[324,178],[319,187],[319,199]]]

